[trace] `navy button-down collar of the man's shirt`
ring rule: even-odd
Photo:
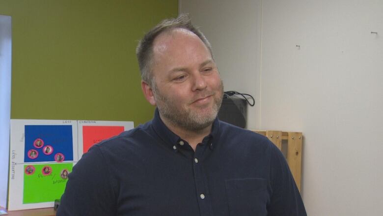
[[[152,120],[153,128],[157,135],[164,140],[164,143],[173,149],[173,146],[176,144],[179,144],[179,142],[182,140],[181,137],[179,137],[177,134],[173,133],[161,120],[160,113],[158,111],[158,108],[156,108],[154,112],[154,118]],[[212,131],[207,136],[209,137],[209,147],[213,149],[214,144],[214,138],[217,138],[219,135],[219,120],[216,118],[213,122]],[[205,137],[206,139],[206,137]],[[204,139],[204,141],[205,141]],[[217,139],[216,139],[217,140]]]

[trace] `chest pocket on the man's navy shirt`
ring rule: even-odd
[[[265,179],[225,180],[230,216],[266,216],[269,199]]]

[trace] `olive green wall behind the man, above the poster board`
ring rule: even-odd
[[[135,55],[178,0],[1,0],[12,17],[12,119],[153,117]]]

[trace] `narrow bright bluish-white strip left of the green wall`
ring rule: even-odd
[[[6,206],[11,115],[11,17],[0,15],[0,206]]]

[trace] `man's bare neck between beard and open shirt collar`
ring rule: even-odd
[[[167,128],[169,128],[173,133],[177,134],[183,140],[186,140],[194,151],[198,143],[202,142],[203,138],[209,135],[212,130],[212,123],[200,130],[190,130],[172,123],[171,121],[164,118],[161,114],[160,117]]]

